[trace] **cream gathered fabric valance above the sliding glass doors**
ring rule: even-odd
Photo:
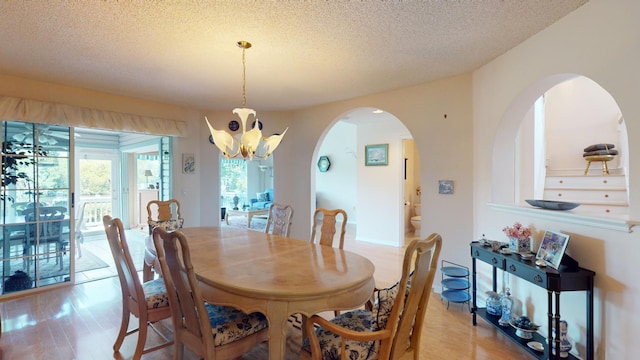
[[[90,109],[11,96],[0,96],[0,120],[163,136],[187,135],[187,124],[184,121]]]

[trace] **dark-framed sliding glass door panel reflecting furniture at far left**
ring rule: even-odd
[[[2,122],[2,293],[71,281],[70,128]]]

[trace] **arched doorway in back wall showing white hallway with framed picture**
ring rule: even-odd
[[[419,160],[413,146],[405,152],[407,142],[412,143],[409,130],[392,114],[375,108],[345,113],[325,130],[316,145],[311,213],[316,207],[344,209],[348,214],[347,231],[355,232],[357,240],[403,246],[405,235],[413,234],[411,204],[420,201],[416,192]],[[365,164],[365,147],[371,145],[386,145],[386,164]],[[322,156],[329,159],[327,171],[317,166]]]

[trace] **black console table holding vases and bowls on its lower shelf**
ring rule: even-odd
[[[492,241],[474,241],[471,243],[471,312],[472,322],[477,324],[476,318],[479,316],[489,324],[493,325],[501,333],[509,339],[520,345],[529,354],[536,359],[578,359],[575,355],[569,353],[570,343],[566,339],[566,322],[554,321],[561,319],[560,316],[560,294],[563,291],[584,291],[586,294],[586,360],[594,359],[594,334],[593,334],[593,313],[594,313],[594,294],[593,282],[595,272],[578,266],[576,260],[568,255],[564,255],[558,269],[550,266],[537,266],[532,259],[523,259],[518,254],[502,253],[499,249],[494,250],[491,246]],[[529,320],[531,326],[526,327],[521,323],[524,322],[520,317],[511,319],[507,326],[501,324],[502,316],[497,316],[497,310],[488,307],[478,307],[477,303],[477,261],[491,265],[492,269],[492,289],[493,293],[497,291],[498,270],[506,272],[509,275],[516,276],[534,285],[547,290],[548,296],[548,319],[547,333],[550,334],[547,339],[539,334],[538,326],[534,321]],[[496,293],[497,294],[497,293]],[[502,298],[503,299],[503,298]],[[495,306],[491,305],[491,306]],[[504,307],[502,309],[504,311]],[[509,314],[511,315],[511,314]],[[518,322],[520,321],[520,322]],[[556,334],[560,334],[557,336]],[[560,344],[560,351],[556,353],[555,346]],[[549,349],[554,349],[549,351]]]

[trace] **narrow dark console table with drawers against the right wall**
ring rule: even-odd
[[[553,319],[560,320],[560,293],[562,291],[585,291],[586,292],[586,337],[587,337],[587,360],[593,360],[593,279],[596,273],[583,269],[578,266],[578,263],[568,255],[563,257],[563,261],[558,270],[550,267],[538,267],[533,260],[522,260],[518,254],[501,254],[491,250],[491,247],[483,246],[479,242],[471,243],[471,258],[472,258],[472,316],[473,325],[477,324],[476,316],[480,316],[486,320],[489,324],[492,324],[498,328],[503,334],[511,338],[518,343],[522,348],[526,349],[531,355],[538,359],[560,359],[560,352],[557,351],[554,355],[551,351],[552,344],[556,342],[559,348],[560,339],[553,338],[552,323]],[[513,327],[498,325],[498,317],[487,314],[486,308],[478,308],[476,302],[476,260],[480,260],[492,266],[493,270],[493,291],[497,291],[497,270],[507,271],[509,274],[524,279],[534,285],[540,286],[547,290],[548,294],[548,334],[549,338],[544,337],[538,333],[534,333],[533,339],[522,339],[516,335],[516,331]],[[554,306],[555,305],[555,306]],[[556,334],[560,334],[560,322],[556,321]],[[544,351],[539,352],[533,350],[527,346],[529,341],[538,341],[544,344]],[[568,359],[577,359],[572,354],[569,354]]]

